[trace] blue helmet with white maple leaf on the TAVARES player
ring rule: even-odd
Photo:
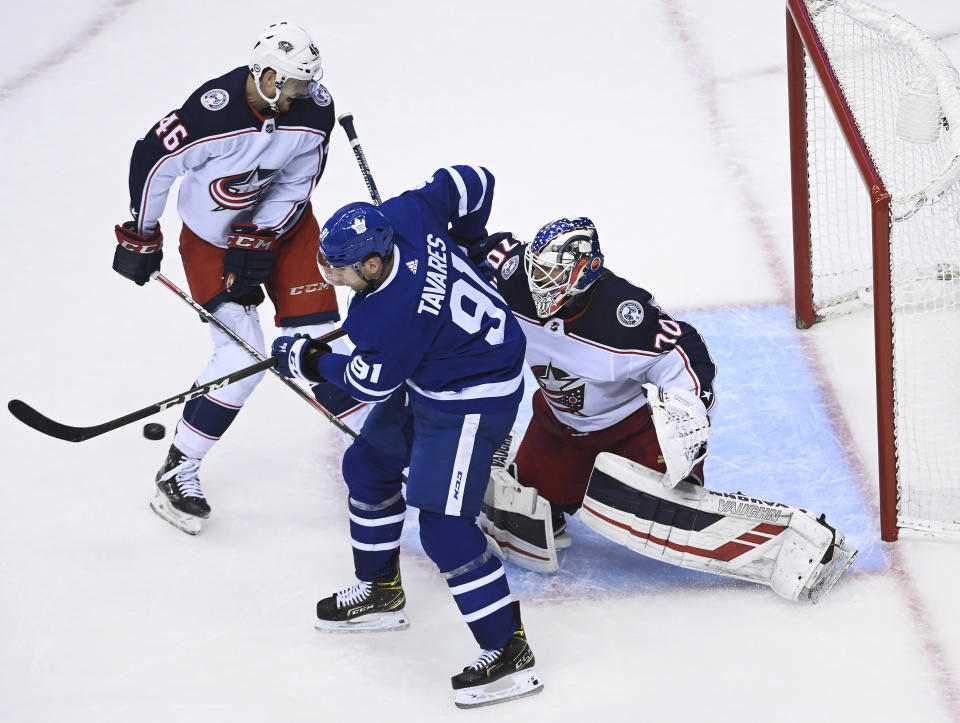
[[[352,266],[360,274],[360,266],[371,254],[383,258],[393,254],[393,226],[373,204],[348,203],[323,224],[317,256],[321,270],[324,265]]]

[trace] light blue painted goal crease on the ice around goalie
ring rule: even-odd
[[[790,310],[765,306],[680,316],[701,331],[719,367],[707,486],[825,512],[860,549],[854,569],[884,567],[877,521],[836,438]],[[534,388],[528,378],[519,429],[529,420]],[[507,564],[521,600],[749,585],[645,558],[590,530],[579,515],[568,529],[573,546],[560,553],[556,575]],[[415,536],[406,537],[408,550],[419,549]]]

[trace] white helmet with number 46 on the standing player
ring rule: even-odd
[[[318,81],[323,77],[320,67],[320,51],[306,30],[299,25],[286,21],[273,23],[264,28],[257,37],[250,53],[250,73],[253,75],[257,93],[273,110],[280,99],[280,91],[288,80]],[[272,98],[264,95],[260,88],[260,77],[267,68],[277,74],[274,86],[276,93]]]

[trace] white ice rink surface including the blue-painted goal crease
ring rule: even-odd
[[[954,3],[886,4],[957,59]],[[591,216],[610,266],[693,322],[720,364],[710,486],[826,512],[861,555],[801,606],[574,521],[558,575],[508,569],[543,695],[463,713],[448,677],[477,651],[414,524],[411,628],[313,630],[315,601],[351,581],[345,441],[276,380],[205,461],[214,512],[196,538],[147,507],[169,439],[134,425],[71,445],[7,415],[0,720],[960,721],[960,547],[878,541],[869,319],[792,326],[780,3],[9,8],[3,398],[93,424],[190,384],[206,329],[109,268],[129,151],[281,17],[313,32],[384,195],[483,163],[497,229]],[[338,132],[314,210],[364,195]],[[173,203],[163,225],[164,272],[182,283]]]

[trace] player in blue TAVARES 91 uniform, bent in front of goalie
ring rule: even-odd
[[[344,322],[356,348],[337,354],[291,336],[273,345],[284,374],[375,404],[343,459],[359,582],[317,604],[316,626],[409,624],[399,547],[407,504],[417,507],[423,548],[483,650],[452,679],[460,707],[542,689],[519,604],[476,522],[523,393],[523,332],[455,242],[485,235],[493,184],[484,168],[453,166],[379,208],[338,210],[320,232],[319,261],[331,283],[356,292]]]

